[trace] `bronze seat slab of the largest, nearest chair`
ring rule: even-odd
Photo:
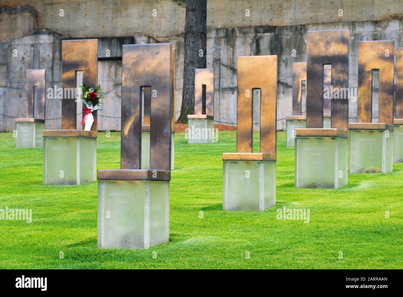
[[[98,180],[171,180],[171,172],[155,169],[98,169]]]

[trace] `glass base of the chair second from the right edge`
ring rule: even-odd
[[[349,141],[350,173],[393,170],[393,131],[349,130]]]

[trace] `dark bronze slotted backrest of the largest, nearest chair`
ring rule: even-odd
[[[150,169],[170,170],[172,44],[123,45],[120,168],[140,169],[141,88],[151,88]]]

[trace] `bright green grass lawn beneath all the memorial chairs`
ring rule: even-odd
[[[105,135],[98,134],[97,168],[118,169],[120,133]],[[235,152],[236,133],[219,132],[218,140],[189,145],[175,134],[170,241],[118,250],[96,247],[97,182],[42,185],[42,148],[17,149],[12,133],[0,133],[0,208],[32,209],[33,216],[31,224],[0,220],[0,268],[403,267],[403,164],[388,174],[349,174],[336,190],[297,189],[294,148],[278,132],[276,205],[230,212],[222,210],[221,154]],[[284,206],[310,209],[309,224],[277,220]]]

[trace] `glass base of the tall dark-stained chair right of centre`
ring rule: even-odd
[[[295,138],[296,188],[339,188],[346,184],[347,138]]]

